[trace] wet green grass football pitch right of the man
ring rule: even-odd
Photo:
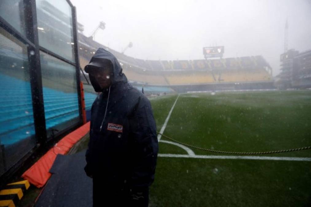
[[[176,98],[151,99],[158,131]],[[311,91],[180,94],[164,134],[224,151],[310,146]],[[161,154],[187,154],[159,146]],[[311,158],[311,150],[263,156]],[[311,206],[310,186],[309,161],[159,157],[150,206]]]

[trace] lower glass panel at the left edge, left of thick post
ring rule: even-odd
[[[36,144],[29,77],[26,45],[0,27],[0,159],[5,170]]]

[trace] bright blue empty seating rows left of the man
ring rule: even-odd
[[[0,80],[0,141],[3,145],[11,145],[35,135],[30,83],[2,74]],[[46,87],[43,90],[47,129],[79,116],[77,93]],[[91,107],[95,97],[95,94],[85,93],[87,108]]]

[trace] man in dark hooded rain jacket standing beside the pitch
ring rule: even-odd
[[[85,167],[93,178],[93,206],[148,206],[158,153],[151,104],[109,51],[99,48],[85,71],[100,92],[91,108]]]

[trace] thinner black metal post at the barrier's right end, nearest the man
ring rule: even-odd
[[[73,30],[73,43],[74,43],[74,55],[76,62],[76,79],[77,79],[77,92],[78,92],[78,103],[79,103],[79,117],[80,122],[83,122],[82,117],[82,103],[81,103],[81,87],[80,87],[80,62],[78,54],[78,32],[77,32],[77,13],[76,7],[72,6],[72,30]],[[84,97],[83,97],[84,98]]]

